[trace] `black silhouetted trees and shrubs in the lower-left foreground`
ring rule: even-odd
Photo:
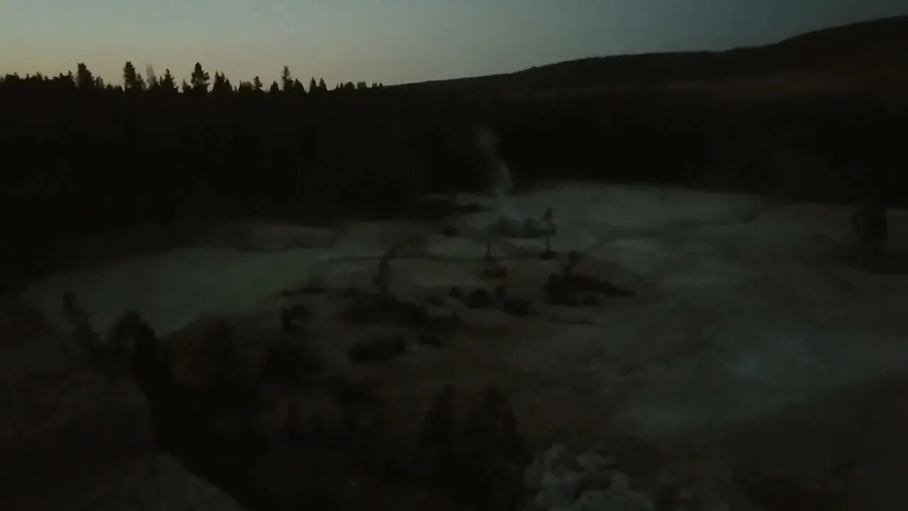
[[[102,340],[74,296],[64,306],[94,370],[125,376],[147,398],[154,448],[251,509],[492,510],[525,500],[530,456],[495,388],[470,403],[445,386],[410,429],[393,424],[380,389],[332,369],[299,336],[248,338],[212,320],[162,340],[129,312]],[[333,406],[320,408],[326,399]],[[290,408],[264,426],[276,402]]]

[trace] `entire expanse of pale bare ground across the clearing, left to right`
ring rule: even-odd
[[[824,255],[850,239],[847,208],[595,184],[460,199],[492,208],[456,219],[469,238],[427,235],[421,250],[473,259],[439,266],[417,257],[418,249],[394,262],[392,282],[469,286],[485,253],[480,235],[501,211],[539,217],[551,206],[558,224],[554,250],[586,250],[583,264],[646,292],[608,302],[593,326],[528,323],[532,331],[509,363],[540,373],[569,366],[586,375],[604,396],[622,396],[617,421],[642,435],[709,431],[908,366],[901,344],[908,332],[908,277],[866,274]],[[904,245],[908,212],[893,211],[890,221],[893,245]],[[428,227],[348,225],[330,248],[267,254],[172,250],[50,276],[25,299],[59,322],[61,296],[71,289],[99,326],[135,308],[167,333],[202,313],[252,309],[313,273],[332,286],[370,287],[377,258],[420,228]],[[262,236],[268,237],[255,239],[269,245]],[[541,240],[508,242],[493,248],[496,255],[510,255],[508,246],[537,252],[543,246]],[[551,269],[535,263],[508,265],[544,279]]]

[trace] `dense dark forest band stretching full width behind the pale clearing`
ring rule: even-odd
[[[177,85],[133,64],[0,79],[0,151],[18,264],[48,240],[169,222],[229,197],[246,213],[394,215],[429,192],[485,185],[478,127],[518,186],[554,178],[713,187],[798,200],[904,202],[906,118],[870,94],[718,101],[659,84],[558,88],[233,85],[195,65]],[[18,266],[18,267],[25,267]]]

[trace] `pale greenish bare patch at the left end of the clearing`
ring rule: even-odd
[[[166,335],[203,314],[255,308],[309,276],[319,255],[316,249],[257,253],[180,248],[49,276],[25,290],[23,298],[56,325],[65,326],[63,294],[72,290],[99,330],[133,309]]]

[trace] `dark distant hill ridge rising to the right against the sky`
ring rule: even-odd
[[[399,87],[450,92],[590,87],[615,83],[709,82],[785,73],[886,75],[908,80],[908,15],[835,26],[773,45],[725,51],[611,55],[515,73]]]

